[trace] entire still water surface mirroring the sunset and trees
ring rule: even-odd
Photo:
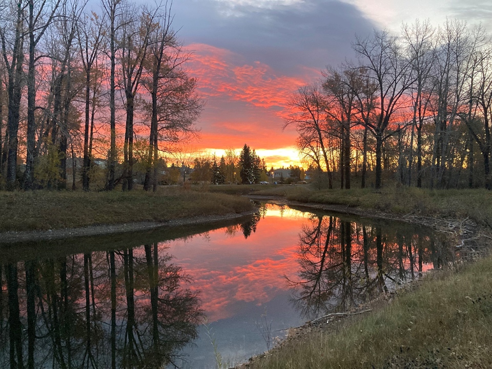
[[[2,247],[0,368],[239,363],[455,259],[425,228],[276,204],[197,232]]]

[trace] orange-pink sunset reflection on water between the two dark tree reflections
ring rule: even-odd
[[[239,301],[261,305],[276,291],[289,289],[285,276],[296,275],[297,238],[303,221],[301,212],[269,206],[255,233],[246,240],[240,228],[224,237],[224,229],[208,233],[208,240],[177,240],[170,253],[193,277],[201,291],[202,308],[209,321],[234,315]],[[213,249],[211,249],[213,247]],[[216,262],[219,259],[220,262]]]

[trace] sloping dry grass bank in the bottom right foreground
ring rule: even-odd
[[[254,369],[492,367],[492,259],[439,272],[339,332],[286,342]]]

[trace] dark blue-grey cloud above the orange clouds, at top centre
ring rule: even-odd
[[[248,62],[260,61],[283,73],[299,66],[323,69],[353,55],[354,35],[375,25],[354,6],[337,0],[260,9],[235,7],[238,16],[224,16],[223,3],[213,0],[175,2],[175,27],[185,42],[229,49]]]

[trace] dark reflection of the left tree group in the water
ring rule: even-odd
[[[155,368],[196,337],[198,297],[157,244],[2,265],[0,367]]]

